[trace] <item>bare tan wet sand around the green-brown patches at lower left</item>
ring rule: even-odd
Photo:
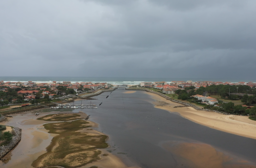
[[[26,112],[23,114],[12,115],[12,118],[8,118],[8,122],[2,122],[2,125],[8,125],[12,127],[19,127],[22,129],[22,138],[20,143],[9,152],[4,159],[0,161],[1,168],[33,168],[31,163],[35,161],[39,156],[46,153],[46,148],[50,145],[51,140],[58,134],[48,133],[48,130],[44,129],[43,124],[50,123],[48,121],[36,120],[42,116],[48,114],[54,114],[56,112],[40,113],[39,116],[35,116],[34,112]],[[64,112],[65,113],[65,112]],[[84,113],[76,113],[81,117],[86,117]],[[89,121],[88,121],[89,122]],[[89,135],[104,135],[98,132],[93,127],[98,127],[97,123],[90,122],[92,127],[85,128],[79,132],[85,132]],[[7,127],[8,130],[11,127]],[[103,156],[103,154],[107,156]],[[127,168],[127,166],[117,157],[107,151],[107,149],[101,149],[101,160],[97,162],[89,163],[82,168],[89,168],[97,165],[98,168]]]

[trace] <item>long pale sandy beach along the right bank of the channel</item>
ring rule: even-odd
[[[158,96],[154,93],[146,93],[157,100],[153,102],[155,104],[155,108],[167,110],[170,112],[178,112],[181,116],[198,124],[227,133],[233,133],[236,135],[256,139],[256,121],[250,120],[247,116],[226,116],[214,112],[195,110],[192,107],[173,108],[174,106],[180,106],[180,104],[162,98],[161,96]]]

